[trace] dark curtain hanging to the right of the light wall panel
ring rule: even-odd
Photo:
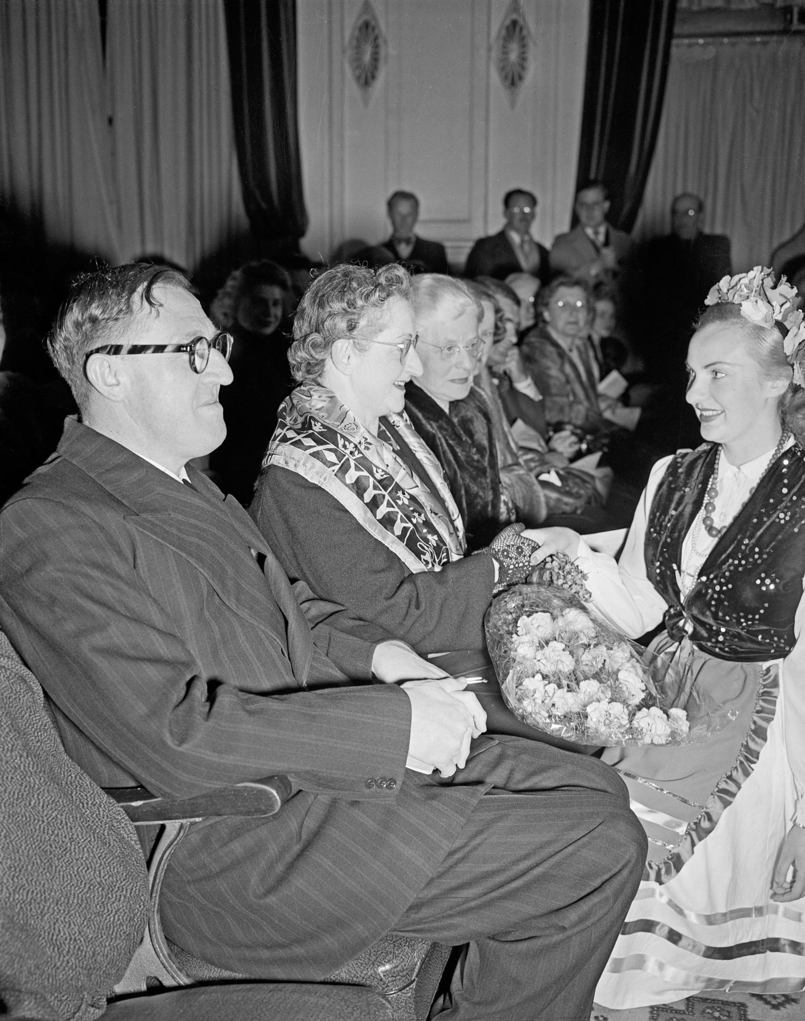
[[[676,0],[590,0],[576,188],[603,181],[609,222],[634,225],[660,125]],[[670,200],[670,199],[669,199]]]

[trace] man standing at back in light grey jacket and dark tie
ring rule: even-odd
[[[631,251],[631,238],[607,223],[609,206],[602,182],[590,181],[579,188],[574,205],[578,225],[558,235],[551,249],[554,276],[578,277],[588,283],[618,279]]]

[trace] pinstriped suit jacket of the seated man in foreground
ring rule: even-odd
[[[383,633],[291,587],[240,504],[191,477],[67,420],[0,514],[0,625],[97,782],[291,777],[273,820],[191,831],[162,918],[223,967],[322,978],[393,926],[486,787],[405,771],[407,696],[349,679]]]

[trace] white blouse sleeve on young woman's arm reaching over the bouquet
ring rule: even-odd
[[[672,457],[662,457],[652,469],[620,561],[616,562],[606,553],[594,552],[583,538],[576,554],[576,563],[587,576],[587,588],[596,609],[630,638],[637,638],[657,627],[668,609],[665,599],[646,576],[643,550],[649,508]]]

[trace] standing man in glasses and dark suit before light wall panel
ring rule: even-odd
[[[506,227],[475,242],[464,276],[505,280],[512,273],[530,273],[547,284],[551,277],[548,249],[531,237],[536,205],[533,192],[522,188],[507,192],[504,196]]]

